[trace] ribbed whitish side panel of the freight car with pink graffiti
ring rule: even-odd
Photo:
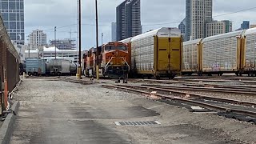
[[[237,38],[236,35],[216,38],[202,44],[202,70],[233,71],[237,70]]]

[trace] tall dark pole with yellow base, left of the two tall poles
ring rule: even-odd
[[[82,62],[81,62],[81,46],[82,46],[82,42],[81,42],[81,35],[82,35],[82,23],[81,23],[81,0],[78,1],[78,25],[79,25],[79,66],[78,66],[78,74],[77,74],[77,78],[81,79],[81,75],[82,75]]]

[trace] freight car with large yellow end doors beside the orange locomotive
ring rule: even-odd
[[[163,27],[121,42],[130,46],[131,75],[174,78],[181,74],[182,34],[178,28]]]

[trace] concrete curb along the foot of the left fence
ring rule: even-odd
[[[16,114],[18,114],[18,108],[20,106],[20,102],[14,102],[14,105],[11,107]],[[14,130],[14,122],[16,116],[13,113],[7,115],[6,120],[3,122],[0,127],[0,144],[10,143],[10,136]]]

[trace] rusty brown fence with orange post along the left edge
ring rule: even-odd
[[[14,45],[10,41],[6,28],[0,17],[0,105],[2,110],[8,106],[8,93],[14,89],[20,81],[19,77],[20,57]],[[2,114],[0,110],[0,114]]]

